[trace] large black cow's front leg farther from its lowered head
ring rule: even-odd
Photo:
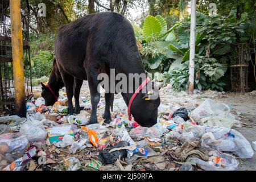
[[[92,104],[92,111],[90,113],[90,124],[97,123],[97,105],[100,102],[100,92],[98,92],[98,84],[99,81],[97,80],[97,71],[93,68],[86,69],[86,73],[88,74],[88,84],[90,89],[90,102]]]

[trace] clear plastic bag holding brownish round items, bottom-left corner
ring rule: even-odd
[[[0,135],[0,170],[24,154],[28,146],[25,135],[6,133]]]

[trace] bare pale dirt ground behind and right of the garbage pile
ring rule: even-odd
[[[40,88],[35,88],[35,91],[38,90],[40,97]],[[65,92],[65,89],[62,89]],[[84,81],[84,84],[81,88],[80,97],[89,98],[89,88],[88,82]],[[104,97],[102,94],[101,97]],[[115,98],[121,97],[120,94],[115,95]],[[232,114],[236,116],[236,119],[240,121],[240,127],[234,127],[234,129],[240,131],[240,133],[247,139],[249,142],[256,140],[256,96],[254,94],[246,93],[225,93],[225,92],[214,92],[207,90],[205,92],[200,92],[197,94],[189,95],[186,92],[173,92],[171,86],[167,86],[160,91],[161,104],[164,105],[179,105],[184,107],[197,107],[205,99],[210,98],[217,102],[224,102],[229,105]],[[250,159],[238,159],[240,165],[238,170],[256,170],[256,155]]]

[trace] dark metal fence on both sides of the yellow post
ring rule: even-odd
[[[26,96],[32,94],[29,44],[29,10],[25,10],[23,27],[23,65]],[[26,20],[24,20],[26,18]],[[15,114],[13,58],[11,53],[11,19],[9,0],[0,0],[0,115]]]

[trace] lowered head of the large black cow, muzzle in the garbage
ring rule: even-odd
[[[158,107],[160,105],[159,86],[151,82],[152,89],[147,93],[137,94],[131,106],[131,114],[134,120],[141,126],[151,127],[156,124]]]

